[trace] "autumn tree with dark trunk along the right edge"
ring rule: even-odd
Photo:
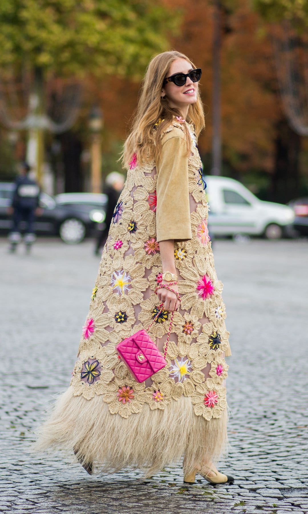
[[[267,22],[266,32],[271,36],[275,46],[284,112],[282,111],[276,123],[271,193],[272,196],[278,196],[282,201],[286,201],[301,194],[301,148],[303,145],[308,148],[307,141],[301,137],[308,134],[308,84],[304,70],[308,1],[254,0],[253,4],[262,19]],[[279,39],[283,39],[284,42],[281,44]]]

